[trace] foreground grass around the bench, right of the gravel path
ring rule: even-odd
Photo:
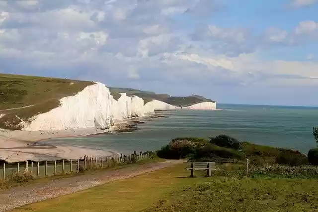
[[[188,178],[176,165],[14,211],[302,211],[318,208],[317,180]]]

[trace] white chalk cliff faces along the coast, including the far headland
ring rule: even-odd
[[[32,117],[23,130],[65,130],[72,128],[109,128],[118,120],[144,116],[159,109],[176,109],[158,100],[144,105],[144,100],[121,94],[116,101],[102,83],[87,86],[75,96],[60,100],[60,106]],[[215,103],[200,103],[189,109],[215,109]]]

